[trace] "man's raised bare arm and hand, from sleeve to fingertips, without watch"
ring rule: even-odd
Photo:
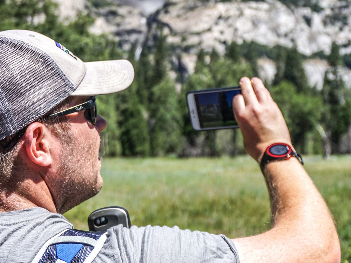
[[[262,81],[240,80],[233,99],[244,146],[258,163],[272,143],[291,145],[282,113]],[[339,238],[323,197],[297,158],[269,162],[264,169],[271,200],[272,229],[233,239],[240,263],[340,262]]]

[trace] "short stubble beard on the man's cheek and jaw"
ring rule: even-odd
[[[99,141],[94,139],[81,142],[72,135],[62,140],[61,164],[54,186],[54,198],[58,213],[63,214],[76,205],[99,193],[102,178],[99,174]]]

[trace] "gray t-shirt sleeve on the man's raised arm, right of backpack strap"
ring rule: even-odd
[[[180,230],[178,227],[121,225],[107,230],[106,242],[95,258],[100,262],[238,263],[238,253],[224,235]]]

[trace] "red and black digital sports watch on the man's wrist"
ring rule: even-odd
[[[261,170],[264,171],[267,163],[271,161],[289,160],[291,157],[296,157],[303,165],[304,161],[299,153],[295,153],[289,144],[278,142],[267,147],[261,160]]]

